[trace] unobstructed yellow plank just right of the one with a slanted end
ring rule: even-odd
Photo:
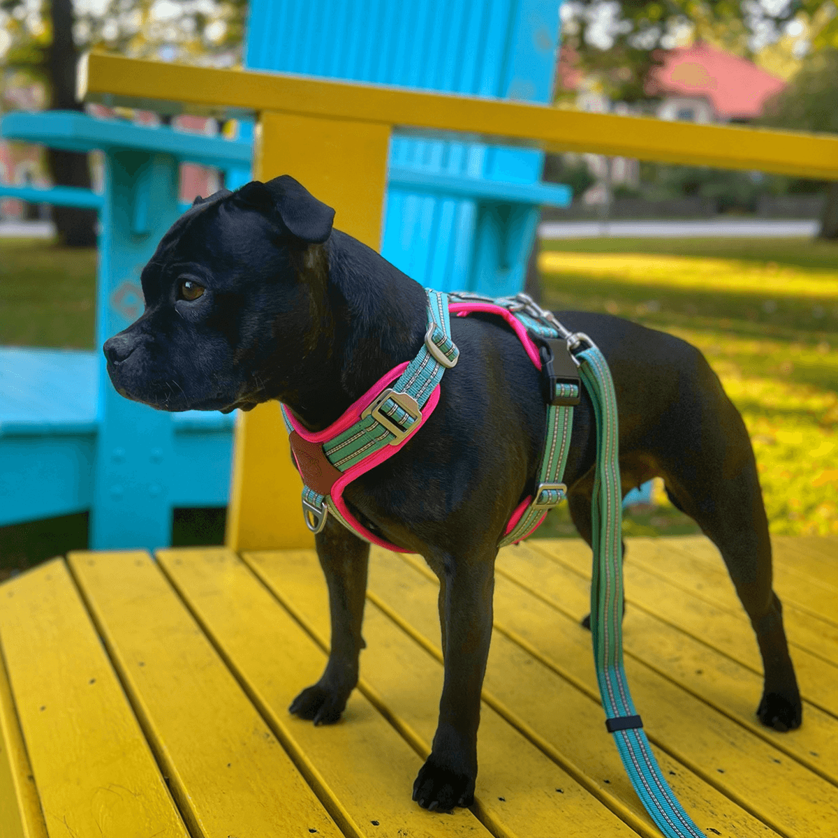
[[[337,838],[334,821],[150,556],[79,552],[69,560],[194,838]]]

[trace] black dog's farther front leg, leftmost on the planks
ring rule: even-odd
[[[314,541],[328,586],[332,647],[320,680],[303,690],[288,709],[324,725],[338,721],[358,683],[358,659],[365,645],[361,623],[370,545],[331,516]]]

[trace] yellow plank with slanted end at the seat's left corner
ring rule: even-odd
[[[0,592],[0,641],[49,835],[186,838],[64,562]]]

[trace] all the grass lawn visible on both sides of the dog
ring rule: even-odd
[[[771,530],[838,534],[838,245],[551,241],[539,265],[550,308],[618,314],[696,344],[745,417]],[[95,301],[94,251],[0,240],[0,344],[93,349]],[[626,515],[627,533],[696,531],[660,486],[653,499]],[[220,541],[223,515],[215,514],[211,526],[204,517],[178,541]],[[78,546],[80,525],[74,519],[57,533],[50,525],[47,535],[43,526],[32,528],[34,535],[30,525],[0,530],[0,557],[12,541],[19,556],[58,552],[64,529],[71,531],[69,546]],[[566,507],[548,516],[539,535],[575,535]]]

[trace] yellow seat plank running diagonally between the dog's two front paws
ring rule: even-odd
[[[328,637],[326,587],[313,552],[246,553],[243,558],[313,634]],[[433,608],[436,613],[436,604]],[[361,658],[362,689],[371,688],[387,715],[416,732],[428,753],[442,666],[378,609],[368,606],[364,625],[368,648]],[[496,835],[634,834],[488,706],[481,713],[478,758],[475,810]],[[409,798],[410,791],[408,784],[403,794]],[[641,834],[657,835],[634,813],[625,817]]]

